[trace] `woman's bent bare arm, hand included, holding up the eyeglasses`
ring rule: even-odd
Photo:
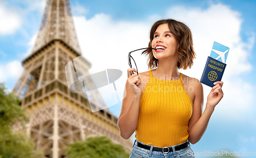
[[[129,139],[137,128],[140,98],[143,89],[138,74],[131,75],[132,71],[136,70],[128,69],[128,79],[124,88],[124,95],[126,92],[126,96],[122,101],[122,108],[117,121],[120,136],[124,139]],[[138,86],[135,84],[136,82]]]

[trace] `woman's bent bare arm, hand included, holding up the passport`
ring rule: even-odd
[[[195,100],[193,105],[193,114],[188,123],[188,140],[190,143],[197,143],[203,136],[208,122],[210,120],[212,112],[214,112],[215,106],[223,98],[222,87],[223,82],[218,81],[215,86],[212,87],[210,94],[207,97],[207,103],[203,114],[203,87],[200,82],[196,83],[195,89]],[[201,116],[202,114],[202,116]]]

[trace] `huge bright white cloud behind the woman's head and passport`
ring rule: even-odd
[[[91,19],[75,16],[75,29],[83,56],[92,63],[90,72],[96,73],[113,68],[121,70],[127,78],[127,69],[130,68],[127,63],[128,52],[147,47],[148,33],[156,18],[174,18],[185,22],[191,29],[197,59],[192,69],[181,71],[188,76],[201,78],[214,41],[230,47],[223,76],[225,95],[217,105],[215,115],[220,119],[246,119],[247,112],[253,108],[253,89],[240,76],[252,69],[248,56],[255,35],[252,34],[248,42],[242,41],[240,31],[243,20],[240,13],[222,4],[213,4],[205,10],[172,7],[164,16],[153,15],[141,22],[114,21],[105,14],[97,14]],[[140,52],[134,52],[132,56],[138,71],[147,71],[147,58],[141,56]],[[124,87],[124,84],[117,86]],[[210,89],[204,85],[205,98]]]

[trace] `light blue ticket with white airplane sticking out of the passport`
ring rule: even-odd
[[[227,55],[229,52],[229,48],[226,46],[223,46],[222,44],[218,42],[214,42],[214,46],[212,46],[210,57],[219,60],[223,63],[226,63]]]

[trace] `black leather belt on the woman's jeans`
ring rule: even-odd
[[[147,150],[150,150],[150,147],[151,147],[150,145],[144,145],[144,144],[141,144],[141,143],[139,143],[139,142],[137,142],[137,141],[135,142],[135,144],[136,144],[138,147],[144,148],[144,149],[147,149]],[[188,146],[190,146],[190,145],[189,145],[189,142],[182,143],[182,144],[180,144],[180,145],[175,146],[175,151],[178,151],[178,150],[180,150],[180,149],[184,149],[184,148],[186,148],[186,147],[188,147]],[[172,147],[163,147],[163,148],[161,148],[161,147],[156,147],[156,146],[154,146],[152,150],[153,150],[153,151],[162,151],[163,153],[168,153],[168,152],[173,151],[173,148],[172,148]]]

